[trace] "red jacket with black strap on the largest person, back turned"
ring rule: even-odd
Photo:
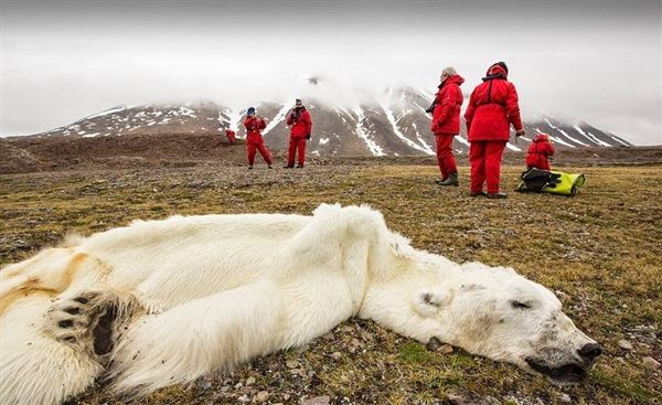
[[[488,70],[483,83],[476,86],[465,113],[469,140],[510,139],[510,125],[522,129],[520,105],[515,86],[508,79],[508,73],[500,65]]]

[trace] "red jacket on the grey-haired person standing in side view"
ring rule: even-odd
[[[433,124],[430,129],[435,135],[460,134],[460,107],[465,97],[460,85],[465,79],[459,75],[448,77],[439,86],[435,98],[435,110],[433,111]]]

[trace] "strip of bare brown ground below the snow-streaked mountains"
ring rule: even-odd
[[[274,150],[277,161],[285,152]],[[28,173],[52,170],[129,169],[194,167],[204,163],[245,166],[245,143],[231,145],[218,135],[127,135],[97,138],[17,137],[0,139],[0,173]],[[506,151],[504,164],[523,164],[523,152]],[[458,163],[468,166],[467,154]],[[257,158],[259,160],[259,157]],[[309,162],[325,164],[436,164],[435,157],[309,157]],[[583,148],[562,150],[553,166],[641,166],[662,162],[662,147]]]

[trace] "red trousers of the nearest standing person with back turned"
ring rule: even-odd
[[[471,146],[469,147],[471,193],[481,192],[483,183],[488,184],[488,193],[494,194],[499,192],[501,156],[504,148],[504,140],[471,141]]]

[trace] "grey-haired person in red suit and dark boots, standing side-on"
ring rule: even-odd
[[[459,185],[458,167],[452,156],[452,139],[460,134],[460,107],[463,96],[460,85],[465,79],[455,67],[441,71],[441,84],[433,103],[433,124],[430,129],[437,140],[437,162],[441,172],[439,185]]]

